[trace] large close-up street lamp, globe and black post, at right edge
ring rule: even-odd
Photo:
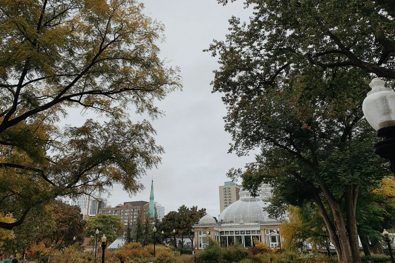
[[[395,92],[384,87],[380,78],[373,79],[362,110],[366,120],[377,131],[378,137],[385,139],[373,146],[374,153],[391,163],[391,172],[395,174]]]

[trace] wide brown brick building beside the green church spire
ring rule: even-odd
[[[136,224],[140,213],[144,222],[145,218],[148,217],[149,206],[150,203],[145,201],[125,202],[123,205],[119,204],[116,207],[100,208],[98,209],[98,214],[118,216],[122,219],[121,223],[127,226],[128,224]]]

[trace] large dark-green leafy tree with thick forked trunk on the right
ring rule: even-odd
[[[221,64],[213,91],[228,107],[230,151],[262,151],[243,185],[271,183],[275,204],[313,201],[339,261],[360,262],[358,195],[387,172],[361,105],[367,73],[395,79],[394,10],[388,1],[245,3],[250,24],[233,17],[226,41],[209,48]]]

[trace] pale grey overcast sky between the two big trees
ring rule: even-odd
[[[221,94],[212,94],[210,82],[217,58],[203,52],[213,39],[224,40],[232,15],[248,21],[252,10],[239,0],[223,7],[216,0],[145,0],[144,13],[165,25],[160,57],[181,69],[183,91],[175,91],[156,105],[165,116],[151,121],[157,144],[165,149],[162,164],[141,178],[145,189],[135,196],[116,186],[109,196],[111,206],[128,201],[150,201],[151,178],[155,201],[165,214],[180,206],[206,208],[218,217],[219,185],[228,181],[226,172],[243,167],[254,156],[228,154],[231,137],[224,130],[226,108]],[[138,118],[133,116],[132,120]],[[72,123],[70,123],[72,124]]]

